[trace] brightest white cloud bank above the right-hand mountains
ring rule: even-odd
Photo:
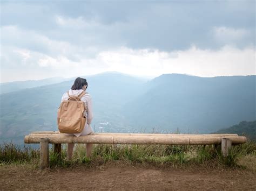
[[[252,47],[238,49],[224,46],[214,51],[193,46],[172,52],[122,48],[114,52],[102,52],[99,58],[103,62],[111,63],[110,70],[136,75],[186,73],[212,77],[256,74],[255,50]]]

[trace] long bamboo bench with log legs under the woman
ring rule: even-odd
[[[246,137],[237,134],[158,134],[158,133],[95,133],[87,136],[70,136],[58,131],[37,131],[25,136],[24,143],[40,144],[40,166],[49,166],[49,143],[54,144],[53,151],[61,152],[64,143],[95,144],[164,144],[164,145],[221,145],[224,157],[231,145],[246,143]]]

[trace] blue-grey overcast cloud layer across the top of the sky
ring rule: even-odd
[[[254,5],[253,1],[1,2],[1,25],[101,50],[126,46],[173,51],[192,44],[218,49],[227,43],[244,48],[255,44]],[[241,30],[250,35],[239,37],[237,43]],[[28,37],[24,41],[31,41]]]

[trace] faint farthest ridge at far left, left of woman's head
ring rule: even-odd
[[[45,86],[48,84],[59,83],[65,81],[64,77],[51,77],[43,80],[26,80],[0,83],[0,94],[9,93],[12,91],[18,91],[26,88],[35,88],[38,86]]]

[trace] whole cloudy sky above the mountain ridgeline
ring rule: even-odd
[[[3,1],[1,83],[255,75],[255,1]]]

